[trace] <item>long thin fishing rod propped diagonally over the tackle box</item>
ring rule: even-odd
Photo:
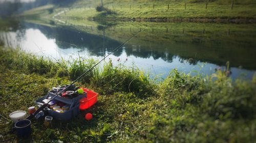
[[[51,102],[53,99],[55,99],[56,97],[60,96],[63,92],[67,91],[71,85],[73,85],[77,80],[79,80],[81,77],[83,77],[84,75],[86,75],[87,73],[89,73],[94,67],[96,67],[100,62],[102,62],[103,60],[105,60],[108,56],[110,56],[112,53],[117,52],[121,47],[123,47],[123,45],[125,45],[127,42],[129,42],[130,40],[132,40],[135,36],[137,36],[139,33],[141,33],[143,30],[145,30],[146,27],[144,27],[141,31],[139,31],[138,33],[136,33],[133,37],[127,39],[125,42],[123,42],[121,45],[117,46],[111,53],[109,53],[108,55],[106,55],[103,59],[101,59],[98,63],[96,63],[93,67],[91,67],[88,71],[84,72],[82,75],[80,75],[76,80],[74,80],[71,84],[68,85],[68,87],[64,88],[63,90],[61,90],[57,95],[55,95],[53,98],[51,98],[47,103],[42,104],[33,114],[31,114],[29,117],[27,117],[26,119],[31,120],[33,119],[33,117],[35,115],[37,115],[37,113],[39,111],[41,111],[42,109],[46,108],[49,104],[49,102]]]

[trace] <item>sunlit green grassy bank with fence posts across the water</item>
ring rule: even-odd
[[[254,1],[103,1],[107,11],[97,12],[97,1],[77,1],[63,17],[94,20],[253,22]],[[254,21],[255,22],[255,21]]]

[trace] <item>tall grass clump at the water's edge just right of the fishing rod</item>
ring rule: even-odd
[[[94,77],[92,84],[101,87],[105,93],[114,91],[135,92],[139,95],[154,93],[154,81],[148,74],[141,72],[135,66],[113,66],[112,61],[103,65],[102,71]]]

